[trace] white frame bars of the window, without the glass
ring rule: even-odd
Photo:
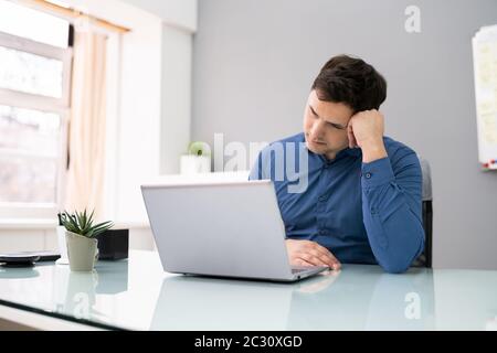
[[[71,24],[68,24],[71,31]],[[0,105],[57,114],[61,117],[60,153],[57,160],[56,195],[54,203],[0,202],[0,218],[53,218],[62,207],[67,178],[68,124],[71,117],[71,79],[73,49],[57,47],[25,38],[0,32],[0,46],[55,58],[63,63],[62,97],[49,97],[0,87]],[[46,158],[42,153],[27,153],[0,149],[0,154],[15,154],[22,158]]]

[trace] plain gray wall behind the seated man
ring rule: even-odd
[[[421,8],[421,33],[404,9]],[[497,173],[477,161],[470,39],[495,0],[201,0],[192,138],[273,141],[302,129],[309,86],[332,55],[384,74],[387,135],[432,164],[434,267],[497,269]]]

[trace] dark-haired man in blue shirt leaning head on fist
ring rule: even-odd
[[[274,181],[292,265],[379,264],[403,272],[422,253],[421,167],[412,149],[383,137],[378,109],[385,98],[387,82],[371,65],[332,57],[313,84],[304,132],[260,153],[250,179]],[[267,152],[299,143],[307,188],[289,192],[290,178],[275,178],[274,168],[277,158],[288,163],[293,147],[279,149],[284,156]]]

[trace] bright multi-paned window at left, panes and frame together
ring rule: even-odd
[[[65,20],[0,0],[0,217],[53,217],[62,201],[70,30]]]

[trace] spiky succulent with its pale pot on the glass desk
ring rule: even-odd
[[[67,257],[72,271],[92,271],[98,257],[97,235],[109,229],[110,221],[93,224],[93,214],[84,212],[61,213],[61,223],[65,227]]]

